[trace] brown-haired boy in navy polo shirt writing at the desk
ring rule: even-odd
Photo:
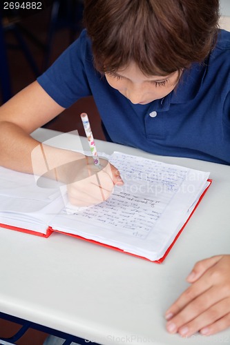
[[[109,140],[229,165],[230,33],[218,30],[218,8],[218,0],[86,0],[87,31],[2,106],[0,163],[32,172],[30,152],[39,143],[30,132],[93,95]],[[57,151],[49,150],[52,159]],[[90,166],[71,155],[84,176]],[[59,174],[63,180],[70,172]],[[112,166],[99,174],[106,199],[122,180]],[[99,186],[88,180],[71,186],[73,204],[100,201]],[[169,332],[210,335],[229,327],[229,268],[229,255],[195,266],[189,293],[166,313]]]

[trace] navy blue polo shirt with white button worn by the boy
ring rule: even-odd
[[[209,57],[146,105],[131,103],[95,70],[86,30],[37,80],[64,108],[93,95],[115,143],[230,165],[230,32],[220,30]]]

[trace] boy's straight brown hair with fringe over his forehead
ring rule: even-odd
[[[201,62],[218,32],[218,0],[85,0],[95,68],[134,61],[145,75],[169,75]]]

